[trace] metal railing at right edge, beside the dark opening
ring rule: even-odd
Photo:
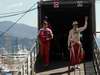
[[[94,64],[94,68],[95,68],[95,72],[97,75],[100,75],[100,49],[99,49],[99,46],[97,44],[97,40],[96,40],[96,36],[93,35],[93,39],[94,39],[94,45],[95,45],[95,48],[94,48],[94,52],[93,52],[93,64]]]

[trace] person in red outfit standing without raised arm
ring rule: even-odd
[[[43,21],[42,26],[43,27],[39,30],[40,55],[44,64],[48,65],[50,41],[53,39],[53,33],[48,27],[48,22],[46,20]]]

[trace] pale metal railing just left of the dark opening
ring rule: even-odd
[[[27,69],[30,68],[30,72],[27,73],[27,75],[36,75],[35,71],[34,71],[34,65],[35,65],[35,61],[36,61],[36,57],[38,55],[39,52],[39,44],[38,44],[38,39],[35,40],[34,45],[32,46],[32,48],[30,49],[30,52],[28,53],[27,57],[25,60],[29,60],[27,63],[27,65],[30,65]],[[25,62],[24,62],[25,63]],[[23,74],[24,75],[24,74]]]

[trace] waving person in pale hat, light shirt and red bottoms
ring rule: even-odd
[[[69,31],[68,36],[68,49],[70,51],[70,64],[77,65],[83,60],[82,56],[82,44],[80,41],[80,32],[87,28],[88,17],[85,17],[85,24],[83,27],[78,27],[78,22],[73,21],[73,28]]]

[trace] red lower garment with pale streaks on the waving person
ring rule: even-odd
[[[85,56],[85,54],[82,50],[81,44],[71,41],[70,64],[71,65],[80,64],[80,62],[84,60],[84,56]]]

